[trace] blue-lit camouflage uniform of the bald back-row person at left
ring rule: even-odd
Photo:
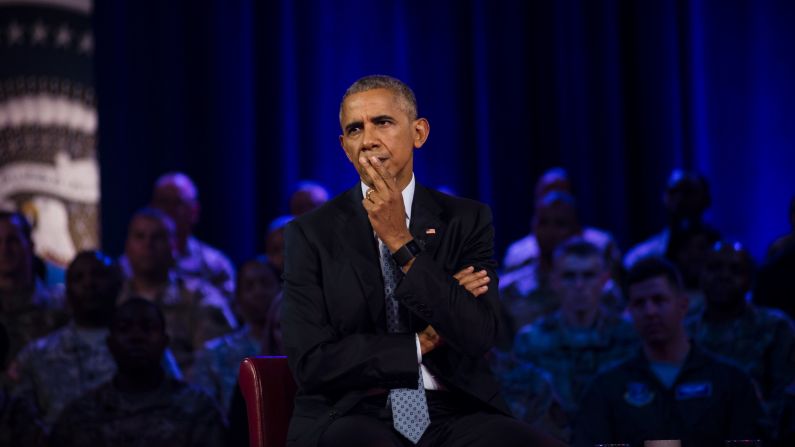
[[[119,263],[127,277],[132,277],[132,268],[126,255]],[[185,254],[176,253],[174,271],[188,282],[206,282],[215,287],[226,299],[231,301],[235,294],[235,269],[219,250],[204,242],[189,237]]]

